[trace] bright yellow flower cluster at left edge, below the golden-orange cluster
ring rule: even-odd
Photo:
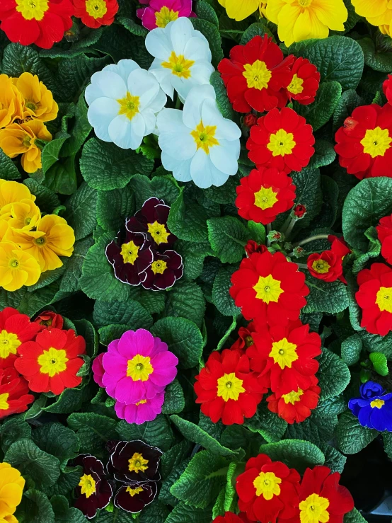
[[[0,287],[7,291],[34,285],[74,251],[74,229],[57,214],[41,217],[34,202],[23,183],[0,180]]]

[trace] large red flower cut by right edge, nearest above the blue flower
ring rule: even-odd
[[[355,299],[362,309],[361,327],[385,336],[392,331],[392,269],[384,263],[373,263],[370,269],[359,272],[357,282]]]

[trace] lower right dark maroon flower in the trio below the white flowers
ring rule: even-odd
[[[154,252],[154,261],[140,275],[144,289],[160,291],[173,287],[183,275],[183,258],[175,251]]]

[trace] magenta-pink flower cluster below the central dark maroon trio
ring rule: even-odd
[[[94,381],[115,398],[120,419],[140,425],[161,413],[165,388],[175,378],[177,365],[166,343],[149,331],[127,331],[94,360]]]

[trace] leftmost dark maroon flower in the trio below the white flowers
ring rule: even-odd
[[[140,232],[118,233],[106,247],[106,258],[113,265],[115,277],[129,285],[139,285],[140,274],[146,270],[154,258],[150,242]]]

